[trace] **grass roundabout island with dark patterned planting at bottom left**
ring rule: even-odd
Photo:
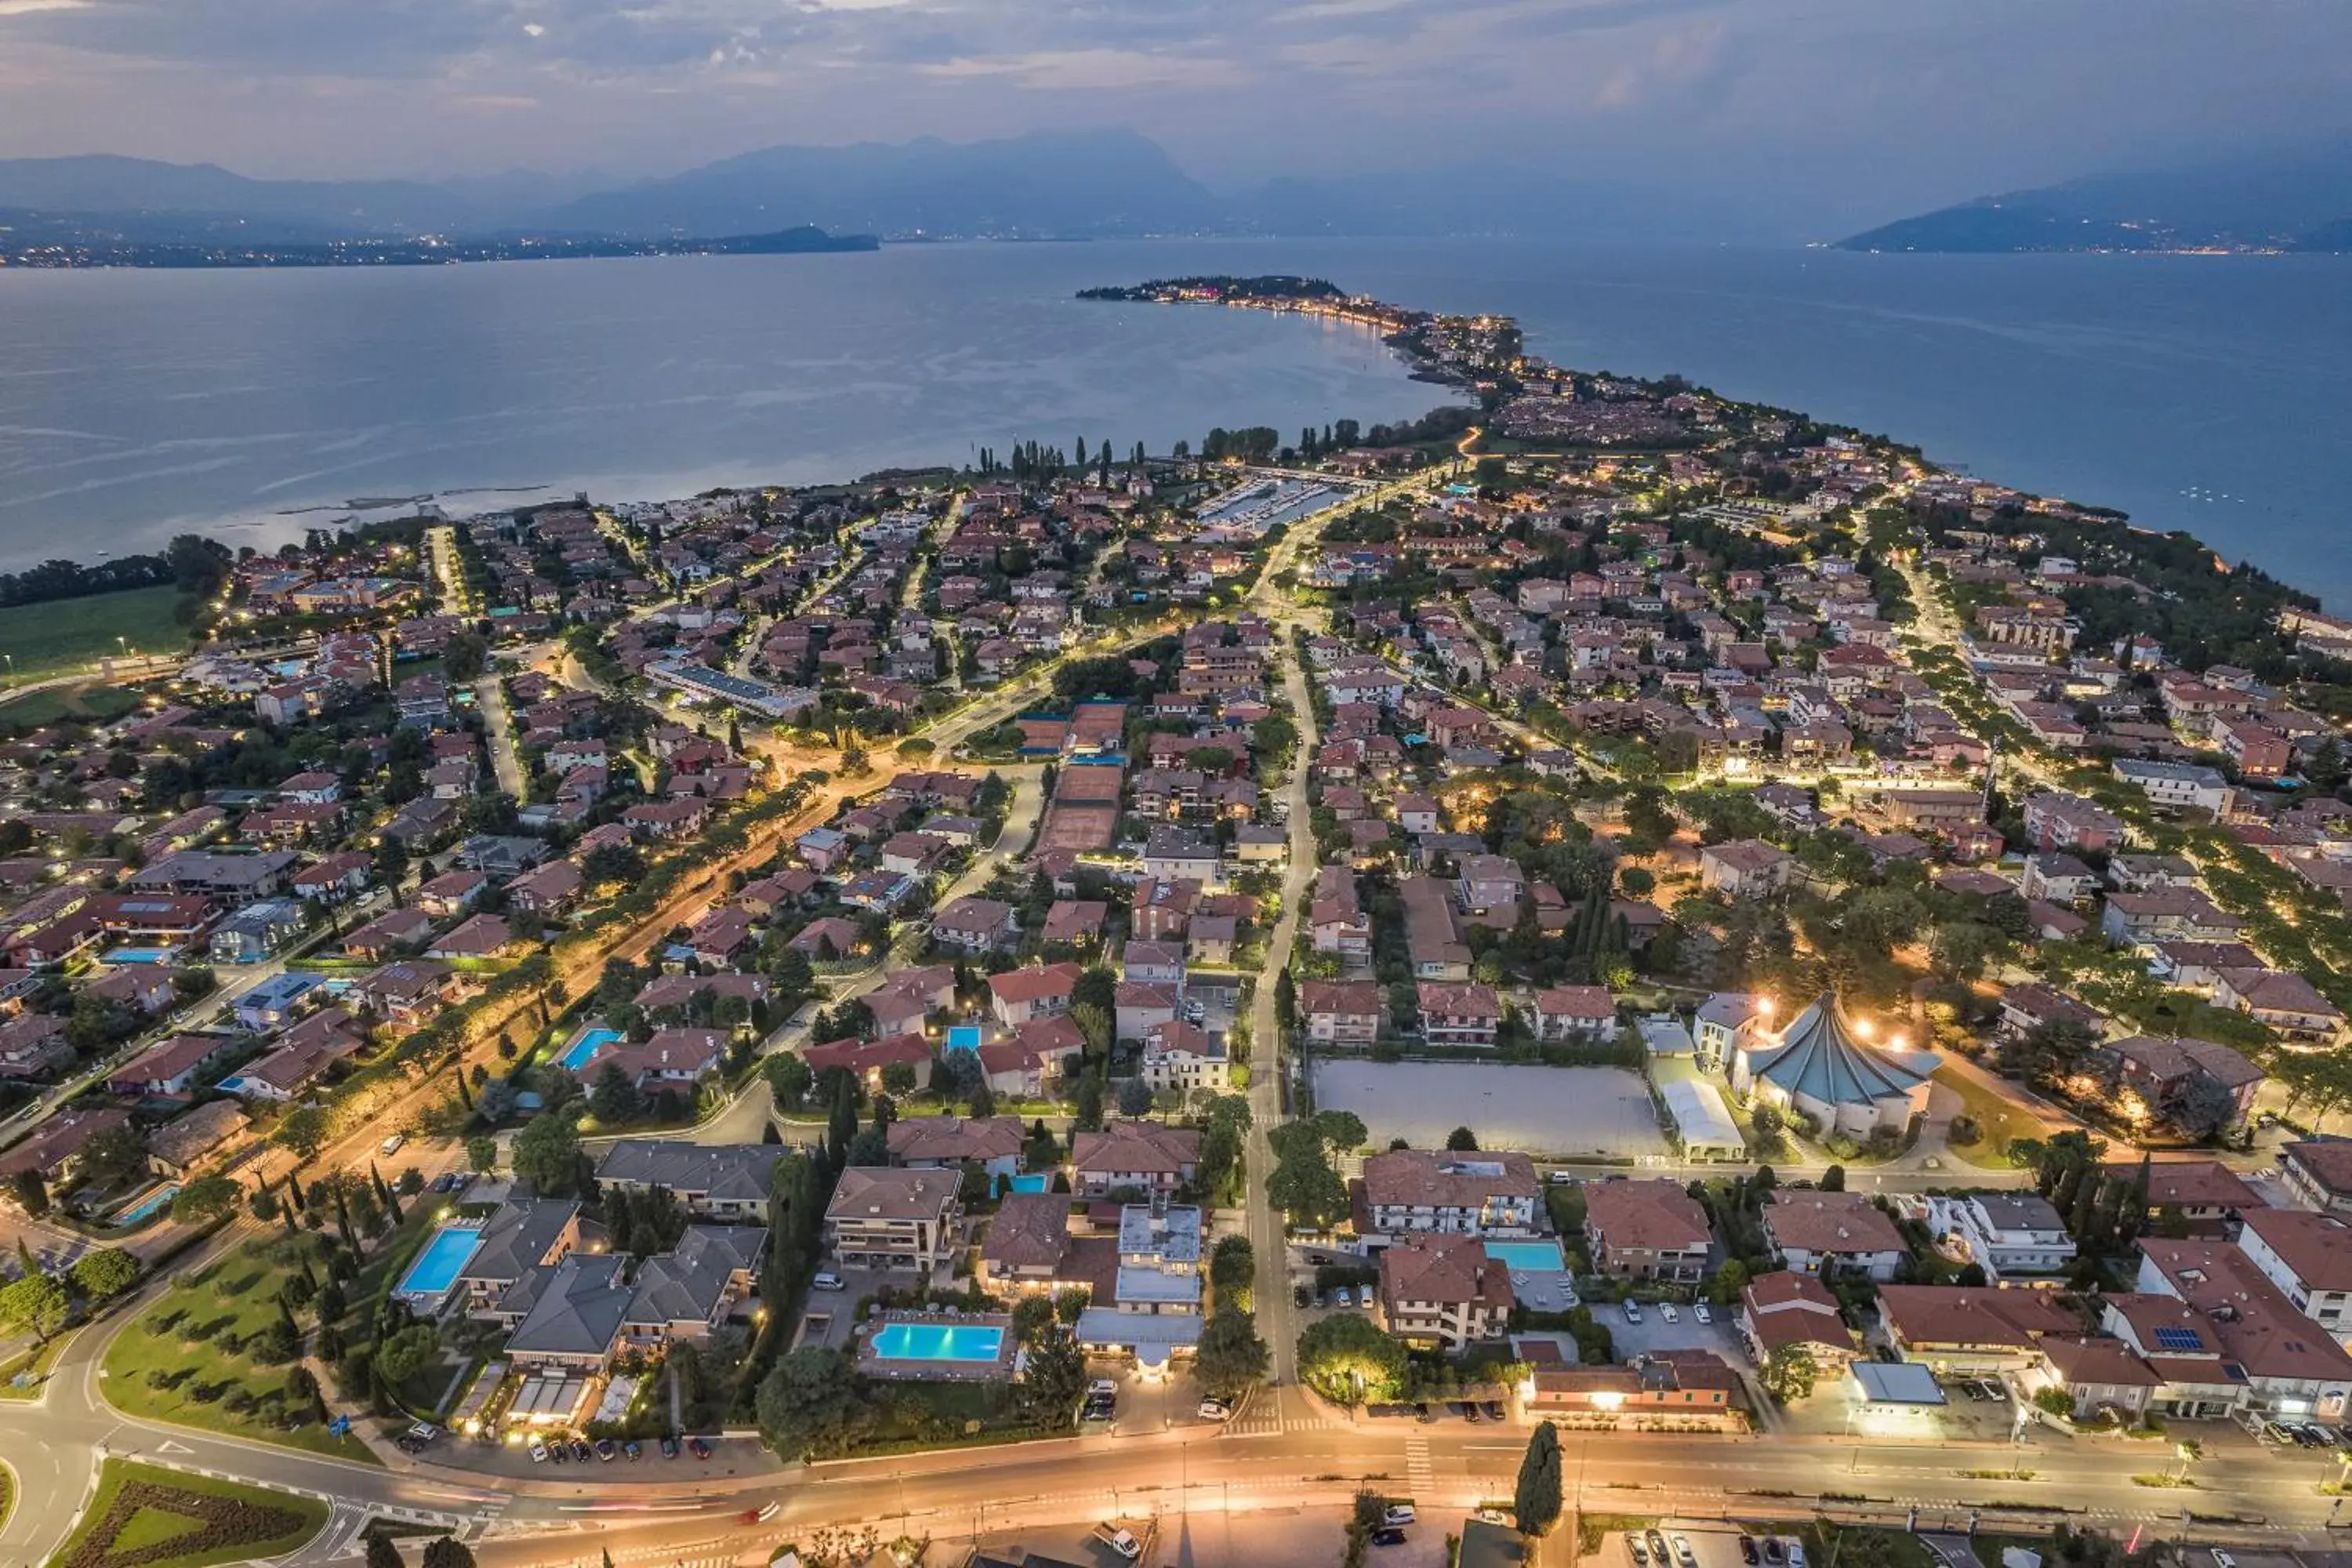
[[[49,1568],[209,1568],[282,1556],[327,1523],[327,1505],[242,1481],[106,1460],[80,1528]],[[165,1552],[174,1540],[186,1549]]]

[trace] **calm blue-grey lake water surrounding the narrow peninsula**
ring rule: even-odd
[[[0,564],[181,527],[273,543],[365,496],[666,496],[1437,402],[1359,331],[1070,299],[1258,270],[1508,310],[1566,364],[1682,371],[1884,430],[2352,604],[2352,259],[1390,240],[9,273]],[[473,503],[494,501],[449,501]]]

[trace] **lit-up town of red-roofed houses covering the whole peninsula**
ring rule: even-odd
[[[1091,296],[1458,402],[188,536],[12,679],[0,1552],[2324,1552],[2352,621]]]

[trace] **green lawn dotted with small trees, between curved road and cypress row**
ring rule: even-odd
[[[230,1335],[249,1340],[278,1321],[278,1286],[294,1272],[287,1237],[268,1237],[176,1281],[106,1347],[106,1401],[127,1415],[379,1462],[355,1436],[332,1436],[320,1425],[287,1432],[285,1387],[294,1368],[263,1366],[223,1345]],[[230,1408],[245,1403],[240,1396],[254,1406]]]

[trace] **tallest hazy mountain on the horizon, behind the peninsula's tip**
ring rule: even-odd
[[[1216,197],[1134,132],[776,146],[534,214],[550,230],[722,235],[1150,235],[1223,228]]]

